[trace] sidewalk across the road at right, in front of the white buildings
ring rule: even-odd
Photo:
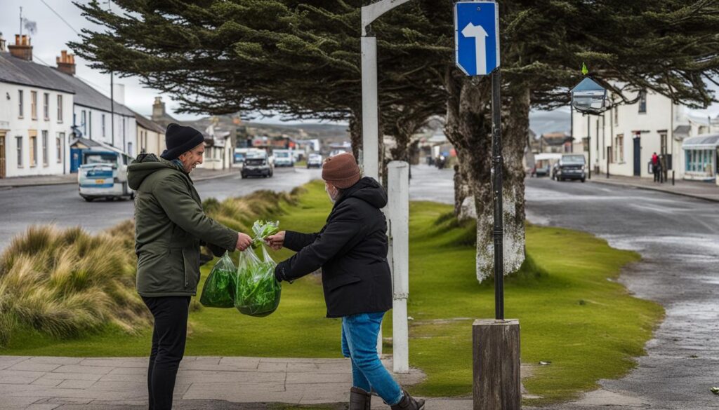
[[[675,185],[672,185],[672,180],[659,184],[659,182],[654,182],[654,180],[650,178],[622,177],[618,175],[610,175],[610,177],[607,178],[605,174],[592,174],[592,180],[590,180],[590,182],[623,185],[626,187],[635,187],[640,190],[667,192],[674,195],[719,202],[719,186],[714,182],[676,180],[674,182]]]

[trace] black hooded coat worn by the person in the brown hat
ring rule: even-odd
[[[387,222],[380,208],[387,194],[365,177],[342,192],[319,233],[285,233],[285,248],[297,253],[275,269],[290,281],[322,268],[327,317],[386,312],[392,307],[387,263]]]

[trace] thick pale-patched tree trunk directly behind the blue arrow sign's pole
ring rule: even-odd
[[[493,275],[494,267],[491,80],[489,77],[467,78],[453,71],[448,70],[445,77],[449,93],[445,133],[457,150],[459,159],[459,169],[455,174],[455,181],[459,182],[455,185],[455,212],[461,208],[468,194],[474,197],[477,211],[476,274],[481,282]],[[510,101],[510,112],[516,113],[525,106],[527,111],[523,118],[506,121],[510,132],[503,130],[503,153],[506,155],[503,190],[505,274],[519,269],[524,261],[524,171],[521,155],[528,125],[528,91],[519,98],[510,98]],[[521,129],[525,134],[518,149],[516,137]]]

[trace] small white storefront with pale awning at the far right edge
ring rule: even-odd
[[[692,136],[684,139],[684,179],[716,180],[719,134]]]

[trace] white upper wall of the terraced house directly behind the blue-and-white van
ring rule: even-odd
[[[115,146],[124,152],[137,156],[137,121],[134,116],[114,114],[114,124],[111,121],[110,111],[75,104],[75,125],[82,131],[83,136],[93,141]],[[83,122],[84,118],[84,122]],[[103,124],[104,121],[104,124]],[[115,134],[113,137],[112,126]]]

